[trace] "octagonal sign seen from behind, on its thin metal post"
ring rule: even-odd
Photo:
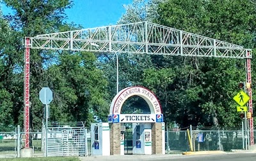
[[[48,105],[52,101],[52,90],[49,87],[43,87],[39,92],[39,99],[43,104],[45,104],[45,157],[47,157]]]

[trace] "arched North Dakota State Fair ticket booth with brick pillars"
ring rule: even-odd
[[[125,101],[137,95],[143,98],[150,114],[122,114]],[[150,90],[127,87],[115,95],[109,109],[108,123],[92,123],[92,155],[124,155],[124,129],[121,123],[132,123],[132,154],[164,154],[165,133],[161,105]]]

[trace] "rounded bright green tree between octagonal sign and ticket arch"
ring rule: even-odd
[[[60,64],[47,71],[49,87],[54,90],[52,120],[71,122],[82,120],[90,123],[93,115],[106,120],[108,81],[95,66],[92,53],[65,53]]]

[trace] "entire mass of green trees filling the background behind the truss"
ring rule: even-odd
[[[72,1],[3,3],[12,8],[13,15],[0,13],[0,127],[10,127],[23,124],[24,37],[81,26],[65,23],[65,9],[72,7]],[[148,20],[255,48],[254,1],[134,0],[125,9],[119,24]],[[119,90],[135,85],[152,90],[161,102],[166,123],[180,127],[239,124],[232,97],[238,92],[237,83],[245,78],[244,60],[31,50],[31,127],[40,128],[44,119],[44,106],[38,99],[42,87],[50,87],[54,93],[51,121],[89,125],[93,116],[106,121],[116,94],[117,58]],[[253,62],[254,57],[252,69]],[[147,102],[132,97],[122,113],[138,111],[148,113]]]

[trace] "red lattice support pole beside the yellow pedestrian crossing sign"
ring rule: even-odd
[[[247,56],[250,55],[250,52],[247,52]],[[246,59],[246,82],[252,84],[252,75],[251,75],[251,59],[247,58]],[[247,93],[250,96],[250,100],[248,102],[249,106],[249,112],[253,113],[253,108],[252,108],[252,88],[247,89]],[[254,138],[253,138],[253,117],[249,118],[249,128],[250,128],[250,144],[254,144]]]

